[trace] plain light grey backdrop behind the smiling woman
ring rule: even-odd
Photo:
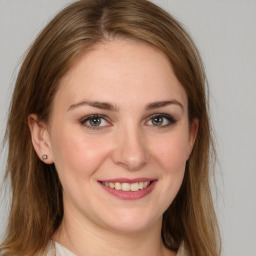
[[[0,0],[0,140],[26,49],[47,22],[71,2]],[[216,209],[223,255],[256,256],[256,1],[153,2],[183,23],[206,66],[219,159]],[[5,151],[0,158],[0,182]],[[1,192],[0,239],[9,201],[10,195]]]

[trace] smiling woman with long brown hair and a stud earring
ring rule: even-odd
[[[200,56],[144,0],[82,0],[30,48],[3,255],[219,255]]]

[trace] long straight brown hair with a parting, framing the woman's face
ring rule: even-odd
[[[214,147],[206,77],[199,53],[183,27],[146,0],[81,0],[61,11],[41,32],[20,69],[6,138],[12,205],[4,255],[43,251],[63,217],[62,188],[54,165],[36,155],[27,123],[31,113],[47,122],[58,81],[93,45],[124,38],[160,49],[188,97],[189,119],[199,119],[181,189],[164,213],[162,239],[173,250],[184,241],[191,256],[220,255],[219,229],[209,184]]]

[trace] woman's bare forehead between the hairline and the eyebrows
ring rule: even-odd
[[[55,102],[90,99],[131,104],[139,100],[146,104],[170,98],[187,104],[168,58],[144,43],[113,40],[80,56],[61,79]]]

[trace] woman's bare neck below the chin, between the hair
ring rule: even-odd
[[[176,253],[168,250],[162,242],[161,223],[159,219],[144,230],[118,232],[67,214],[53,240],[77,256],[174,256]]]

